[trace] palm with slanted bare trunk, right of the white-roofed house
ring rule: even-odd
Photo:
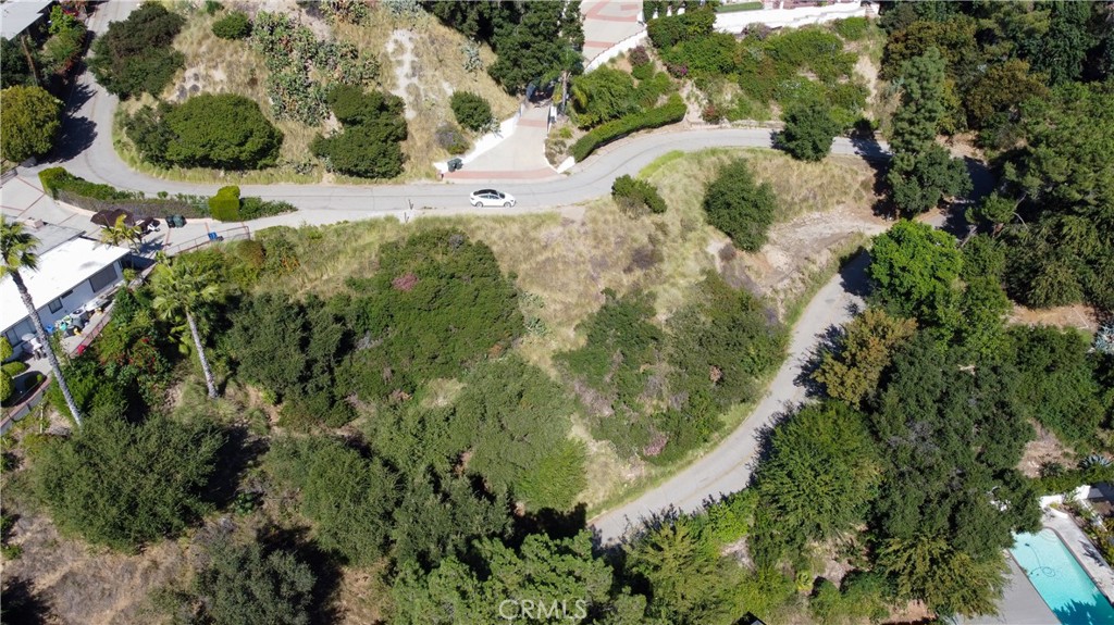
[[[208,387],[209,397],[215,399],[218,397],[216,381],[213,379],[208,358],[205,357],[196,315],[204,306],[221,300],[223,292],[219,282],[212,271],[177,260],[155,268],[152,288],[155,290],[155,312],[160,319],[174,321],[185,316],[194,348],[197,349],[197,359],[202,361],[202,371],[205,373],[205,386]]]

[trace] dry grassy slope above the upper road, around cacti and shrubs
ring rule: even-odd
[[[201,3],[198,3],[201,4]],[[434,140],[437,128],[444,121],[455,121],[449,109],[449,98],[453,91],[471,91],[491,103],[492,112],[506,119],[517,109],[517,99],[508,96],[485,70],[468,72],[463,67],[462,44],[467,39],[457,31],[440,23],[426,12],[414,17],[398,18],[384,8],[372,8],[371,17],[363,24],[338,21],[330,24],[299,8],[294,0],[268,0],[266,2],[226,2],[225,10],[214,16],[199,8],[189,9],[175,4],[175,10],[187,19],[186,26],[175,39],[174,46],[185,57],[185,69],[163,92],[162,99],[178,102],[197,93],[238,93],[260,103],[264,113],[283,131],[281,163],[277,168],[236,176],[241,183],[270,182],[317,182],[333,180],[309,153],[310,141],[319,133],[334,128],[335,122],[320,127],[274,120],[266,97],[267,68],[262,54],[254,52],[246,40],[228,41],[213,34],[213,22],[227,11],[243,10],[248,14],[258,11],[283,12],[296,16],[309,26],[319,38],[348,41],[361,52],[370,52],[379,59],[380,72],[374,82],[365,89],[384,89],[405,100],[407,121],[410,136],[403,142],[407,156],[405,171],[401,180],[433,178],[432,162],[449,157]],[[481,47],[480,57],[485,67],[495,62],[490,48]],[[131,113],[155,100],[149,96],[123,102],[121,113]],[[119,116],[118,116],[119,117]],[[129,166],[148,173],[166,178],[195,181],[212,181],[219,172],[204,169],[167,171],[141,163],[123,136],[117,119],[116,136],[118,149]],[[231,176],[231,175],[229,175]],[[359,178],[342,178],[344,182],[365,182]]]

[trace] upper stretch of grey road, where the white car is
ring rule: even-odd
[[[137,6],[135,2],[108,2],[90,18],[89,27],[104,32],[108,23],[126,19]],[[70,98],[71,109],[62,131],[60,157],[53,162],[31,168],[61,166],[76,176],[105,182],[120,189],[157,194],[213,195],[222,187],[218,180],[211,185],[163,180],[137,172],[117,155],[113,146],[111,128],[118,99],[106,92],[89,72],[84,73]],[[672,150],[694,151],[716,147],[770,148],[769,129],[664,130],[633,137],[598,150],[583,163],[577,163],[568,175],[549,181],[500,183],[518,198],[518,206],[510,210],[475,209],[467,202],[468,187],[449,182],[416,182],[409,185],[244,185],[244,195],[284,200],[300,210],[252,222],[263,228],[273,225],[293,225],[302,221],[325,224],[367,218],[373,214],[398,212],[429,207],[439,212],[522,214],[553,210],[589,200],[610,192],[612,181],[625,173],[634,175],[657,157]],[[861,156],[867,159],[887,158],[885,145],[872,141],[836,139],[832,153]],[[411,204],[412,202],[412,204]]]

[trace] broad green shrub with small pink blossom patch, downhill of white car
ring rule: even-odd
[[[270,246],[267,257],[270,262]],[[349,323],[372,340],[353,355],[349,370],[364,399],[413,394],[424,380],[456,377],[522,334],[517,289],[482,242],[429,230],[383,245],[379,264],[374,276],[349,281]]]

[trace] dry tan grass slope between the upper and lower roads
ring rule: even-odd
[[[735,158],[746,159],[755,177],[769,181],[782,199],[770,244],[756,254],[723,252],[726,238],[705,222],[701,208],[704,186]],[[582,345],[577,325],[599,308],[605,288],[618,294],[653,290],[664,320],[685,302],[704,271],[719,269],[732,284],[790,312],[840,254],[853,249],[863,234],[885,228],[871,212],[873,176],[856,158],[803,163],[770,150],[674,152],[642,172],[661,189],[668,205],[664,215],[631,217],[610,198],[600,198],[563,214],[426,214],[409,224],[387,219],[291,230],[302,266],[263,288],[328,297],[341,290],[349,276],[373,272],[383,242],[420,229],[456,227],[490,246],[502,269],[514,272],[519,288],[529,294],[521,299],[524,315],[540,319],[541,326],[517,349],[554,374],[554,355]],[[726,418],[737,423],[745,413],[733,410]],[[577,428],[577,434],[589,448],[590,486],[584,494],[589,505],[652,477],[649,467],[620,462],[609,445],[592,440],[586,428]]]

